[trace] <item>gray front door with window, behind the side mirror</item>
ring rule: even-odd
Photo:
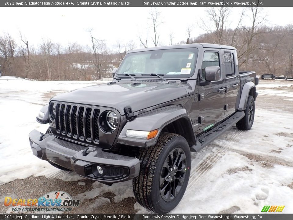
[[[220,69],[220,80],[212,81],[208,85],[205,80],[204,68],[209,66],[220,65],[220,50],[207,50],[204,52],[204,57],[201,66],[201,79],[199,79],[199,116],[201,122],[199,123],[200,130],[207,130],[214,126],[215,123],[224,118],[225,105],[225,81]]]

